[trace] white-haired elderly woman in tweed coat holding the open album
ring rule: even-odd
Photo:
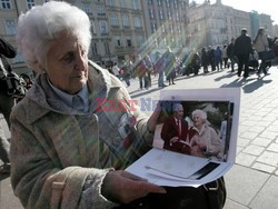
[[[90,21],[50,1],[21,14],[17,40],[38,73],[11,116],[11,183],[24,208],[112,208],[161,187],[123,170],[149,149],[148,120],[88,60]]]

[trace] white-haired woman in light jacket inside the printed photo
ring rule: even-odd
[[[192,147],[191,155],[203,158],[217,159],[221,151],[220,139],[216,130],[208,125],[207,113],[203,110],[192,111],[193,127],[190,128],[189,135]],[[192,135],[192,132],[195,135]]]

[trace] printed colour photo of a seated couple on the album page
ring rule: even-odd
[[[230,101],[160,101],[153,147],[227,161],[234,103]]]

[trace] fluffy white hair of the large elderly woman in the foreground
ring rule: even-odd
[[[86,52],[91,42],[90,21],[79,8],[66,2],[50,1],[19,17],[17,41],[28,66],[41,73],[51,41],[67,31],[78,38]]]

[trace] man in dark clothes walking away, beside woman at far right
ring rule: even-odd
[[[242,28],[241,34],[235,42],[235,52],[238,58],[238,77],[241,77],[242,70],[245,70],[245,78],[249,76],[248,61],[251,49],[251,38],[247,34],[247,29]]]

